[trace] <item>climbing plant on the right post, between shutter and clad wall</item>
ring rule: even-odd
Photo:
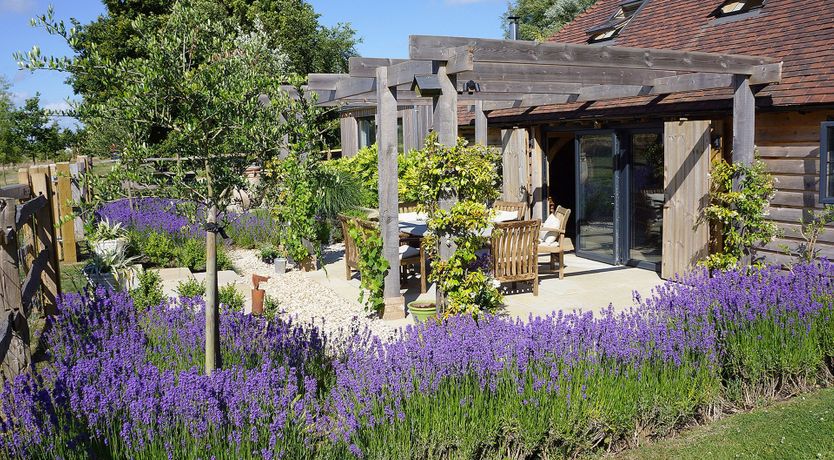
[[[776,224],[767,217],[775,191],[773,178],[761,160],[752,165],[719,160],[713,164],[711,175],[710,205],[704,216],[721,228],[723,248],[701,265],[727,270],[745,260],[760,264],[753,258],[756,246],[767,244],[778,234]]]

